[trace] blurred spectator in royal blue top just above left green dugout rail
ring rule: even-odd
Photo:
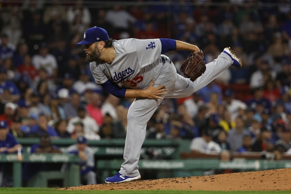
[[[38,115],[38,122],[36,125],[31,127],[29,134],[31,137],[41,137],[43,135],[47,135],[51,138],[58,137],[56,130],[52,126],[48,125],[47,116],[44,114]]]

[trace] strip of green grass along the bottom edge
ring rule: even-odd
[[[86,194],[86,193],[98,193],[98,194],[174,194],[174,193],[183,193],[183,194],[226,194],[226,193],[236,193],[236,194],[245,194],[245,193],[290,193],[291,191],[177,191],[177,190],[161,190],[161,191],[57,191],[52,188],[0,188],[1,194],[12,194],[12,193],[21,193],[21,194]]]

